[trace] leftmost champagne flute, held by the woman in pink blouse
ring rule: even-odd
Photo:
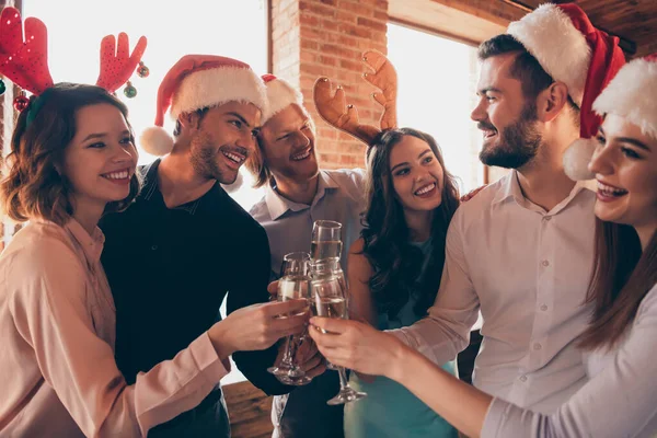
[[[308,299],[310,289],[310,255],[308,253],[289,253],[283,258],[280,267],[281,278],[278,280],[277,301],[288,301],[293,299]],[[306,310],[298,314],[306,313]],[[279,315],[278,318],[288,318]],[[312,380],[306,376],[306,372],[295,364],[295,354],[306,335],[288,336],[284,347],[283,359],[274,367],[267,368],[267,371],[276,376],[285,384],[302,385]]]

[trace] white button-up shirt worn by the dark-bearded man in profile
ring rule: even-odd
[[[593,261],[595,194],[577,184],[544,211],[514,171],[456,212],[442,281],[429,315],[393,331],[437,364],[463,350],[481,310],[479,389],[551,413],[586,381],[575,346]]]

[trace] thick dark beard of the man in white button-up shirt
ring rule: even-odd
[[[506,169],[519,169],[530,162],[538,153],[543,137],[535,128],[538,119],[537,105],[528,103],[522,108],[518,120],[498,131],[497,145],[484,147],[480,160],[486,165],[498,165]],[[480,129],[495,129],[493,125],[479,123]]]

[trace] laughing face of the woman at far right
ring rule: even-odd
[[[609,114],[589,164],[598,180],[596,216],[639,228],[657,227],[657,139]]]

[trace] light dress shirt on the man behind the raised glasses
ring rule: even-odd
[[[360,237],[360,214],[365,210],[362,169],[320,171],[318,193],[311,205],[293,203],[267,185],[265,196],[251,208],[251,216],[265,228],[272,251],[273,278],[278,278],[283,257],[310,252],[315,220],[342,223],[342,268],[347,273],[347,253]]]

